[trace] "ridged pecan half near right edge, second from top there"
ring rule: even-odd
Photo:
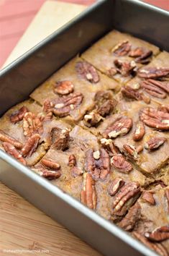
[[[142,88],[150,95],[152,95],[155,98],[166,98],[167,94],[163,89],[161,89],[159,86],[155,85],[150,80],[142,81],[141,83]]]

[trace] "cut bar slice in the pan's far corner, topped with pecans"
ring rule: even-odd
[[[158,53],[157,46],[112,30],[85,51],[82,58],[109,77],[119,82],[127,82],[138,67],[151,61],[151,57]]]

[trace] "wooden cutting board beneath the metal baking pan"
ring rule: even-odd
[[[4,66],[85,8],[78,4],[45,2]],[[52,221],[50,217],[0,183],[0,255],[21,255],[17,250],[22,250],[25,256],[100,255],[59,223]],[[30,253],[27,250],[37,250],[37,253]]]

